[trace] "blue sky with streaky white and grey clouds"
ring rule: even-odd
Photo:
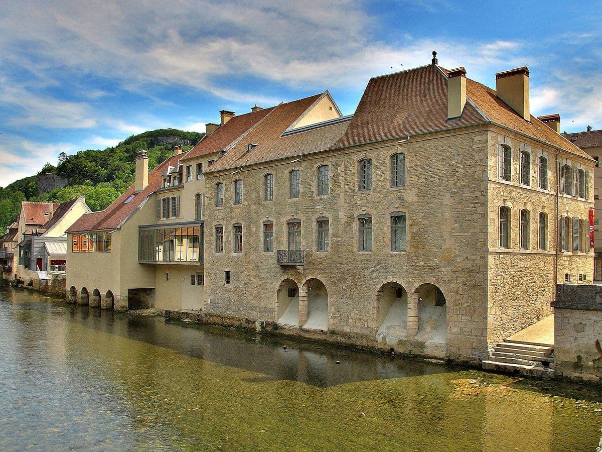
[[[343,114],[370,79],[430,63],[528,66],[533,115],[602,128],[602,1],[0,0],[0,186],[61,151],[173,127],[205,131],[329,90]]]

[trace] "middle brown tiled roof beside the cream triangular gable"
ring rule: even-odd
[[[315,127],[315,125],[304,127],[295,133],[282,136],[294,121],[324,95],[325,93],[317,94],[278,105],[244,140],[217,160],[208,172],[238,168],[282,157],[294,157],[329,148],[343,135],[349,121],[326,121],[322,127]],[[248,151],[249,143],[255,143],[257,146]]]

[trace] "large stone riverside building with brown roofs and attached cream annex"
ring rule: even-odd
[[[220,112],[148,186],[137,172],[70,229],[73,243],[111,230],[111,253],[118,236],[126,246],[111,262],[68,249],[73,298],[112,287],[127,308],[145,287],[161,309],[479,362],[551,312],[556,283],[592,280],[595,162],[530,115],[526,67],[496,78],[492,90],[433,58],[371,79],[351,116],[328,92]],[[176,165],[178,184],[162,186]],[[177,222],[163,215],[174,196]],[[196,224],[202,262],[166,262],[166,243],[190,243],[182,230]]]

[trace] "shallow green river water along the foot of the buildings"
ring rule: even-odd
[[[600,389],[0,289],[1,450],[595,451],[601,428]]]

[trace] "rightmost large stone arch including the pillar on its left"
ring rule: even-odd
[[[445,344],[447,300],[447,290],[440,284],[415,284],[408,301],[408,336],[425,344]]]

